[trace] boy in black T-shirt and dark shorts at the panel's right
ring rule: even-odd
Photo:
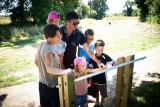
[[[105,43],[103,40],[97,40],[94,48],[95,48],[95,57],[103,64],[110,63],[113,66],[119,64],[119,59],[117,59],[116,62],[114,62],[108,55],[103,53]],[[90,67],[92,68],[98,68],[96,62],[94,62],[92,59],[90,60]],[[99,91],[101,94],[101,105],[103,105],[104,100],[107,97],[107,82],[105,78],[105,73],[96,75],[92,77],[93,81],[93,88],[94,88],[94,95],[96,95],[96,103],[99,103]]]

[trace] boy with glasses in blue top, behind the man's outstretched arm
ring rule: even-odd
[[[92,43],[92,41],[94,40],[94,31],[92,29],[87,29],[84,33],[85,38],[87,40],[87,45],[89,47],[89,49],[94,52],[94,44]],[[80,57],[85,57],[86,61],[89,62],[90,61],[90,57],[88,56],[88,54],[86,53],[86,51],[84,50],[83,46],[80,45],[79,49],[78,49],[78,56]]]

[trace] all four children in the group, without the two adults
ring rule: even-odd
[[[59,26],[59,13],[56,11],[51,11],[48,14],[47,24],[55,24]],[[95,44],[92,43],[94,40],[94,31],[92,29],[87,29],[85,31],[85,38],[87,40],[87,45],[92,52],[95,50],[95,57],[102,62],[104,65],[107,64],[117,65],[119,64],[118,60],[113,61],[107,54],[103,53],[105,43],[103,40],[97,40]],[[62,37],[61,37],[62,38]],[[62,69],[65,69],[63,66],[63,55],[66,48],[66,43],[60,41],[59,44],[52,46],[53,53],[59,56],[60,66]],[[75,68],[75,78],[86,75],[87,73],[100,71],[102,69],[98,68],[96,62],[89,58],[82,46],[79,46],[78,57],[74,60]],[[92,82],[91,82],[91,81]],[[89,82],[92,84],[92,96],[96,98],[96,103],[99,103],[99,92],[101,95],[101,103],[103,104],[107,97],[107,82],[105,78],[105,73],[93,76]],[[88,95],[88,81],[87,79],[75,82],[75,93],[76,93],[76,104],[80,107],[87,106],[87,95]]]

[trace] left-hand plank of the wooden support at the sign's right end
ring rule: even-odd
[[[121,63],[124,63],[125,59],[121,59]],[[124,66],[117,69],[117,82],[116,82],[116,97],[115,97],[115,107],[120,107],[121,96],[123,94],[123,81],[124,81]]]

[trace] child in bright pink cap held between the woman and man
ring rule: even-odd
[[[51,11],[48,14],[48,19],[46,20],[46,22],[48,24],[55,24],[55,25],[59,26],[59,13],[56,11]],[[62,36],[61,36],[61,39],[62,39]],[[59,44],[55,44],[52,46],[53,52],[59,56],[60,65],[61,65],[62,69],[64,69],[63,55],[64,55],[64,51],[66,49],[66,46],[67,46],[67,44],[63,40],[61,40]]]

